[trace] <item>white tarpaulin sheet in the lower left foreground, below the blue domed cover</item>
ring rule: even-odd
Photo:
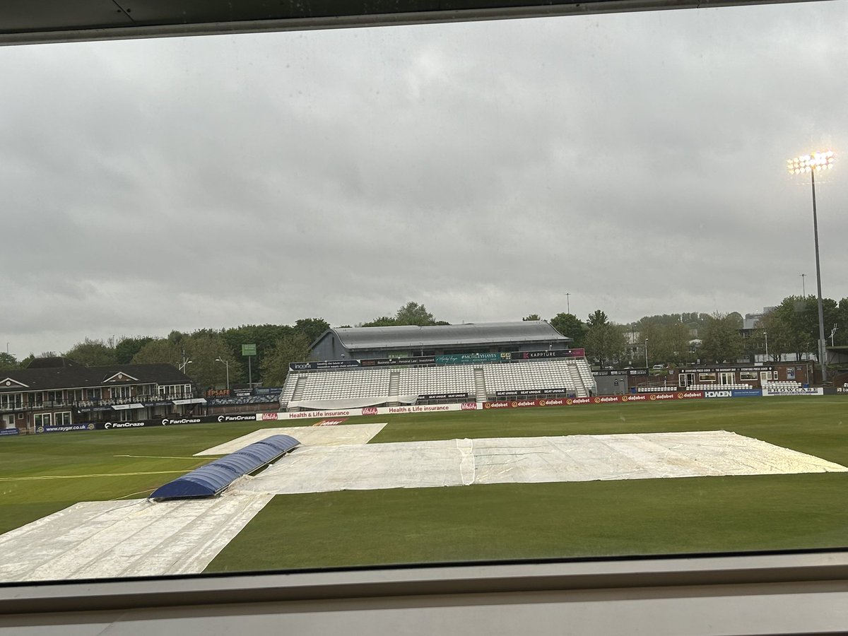
[[[0,582],[203,572],[271,499],[75,504],[0,535]]]

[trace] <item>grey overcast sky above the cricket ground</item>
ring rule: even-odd
[[[762,310],[815,293],[785,159],[848,146],[845,78],[841,0],[0,47],[0,348]],[[848,163],[823,181],[839,299]]]

